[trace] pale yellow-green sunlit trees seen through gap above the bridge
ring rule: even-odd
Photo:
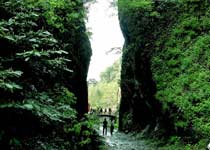
[[[117,60],[101,73],[100,81],[89,81],[89,102],[91,107],[117,110],[119,105],[120,64]]]

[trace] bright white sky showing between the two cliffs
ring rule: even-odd
[[[112,65],[120,55],[106,54],[114,47],[122,47],[124,38],[120,30],[117,10],[110,8],[113,0],[96,0],[89,7],[86,27],[92,32],[90,39],[92,57],[88,79],[100,79],[100,73]],[[115,15],[113,15],[115,14]]]

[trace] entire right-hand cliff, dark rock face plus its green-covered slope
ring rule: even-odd
[[[206,136],[209,1],[119,0],[118,5],[125,37],[120,129],[150,125],[167,134]]]

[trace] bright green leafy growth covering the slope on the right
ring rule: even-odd
[[[210,131],[209,120],[204,119],[209,113],[204,107],[209,101],[210,92],[207,20],[206,16],[200,18],[184,13],[171,29],[164,51],[157,47],[152,60],[158,87],[156,98],[163,103],[173,103],[182,112],[177,112],[176,116],[179,117],[174,118],[177,128],[187,129],[192,124],[202,136],[207,136]],[[168,106],[168,109],[171,108]]]

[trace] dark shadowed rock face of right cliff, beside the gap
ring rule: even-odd
[[[165,3],[166,6],[173,5]],[[154,6],[153,6],[154,5]],[[156,5],[156,6],[155,6]],[[154,128],[161,116],[161,103],[155,99],[156,83],[151,70],[151,58],[161,28],[169,26],[173,17],[167,13],[159,18],[155,10],[159,3],[150,1],[119,1],[119,19],[125,37],[122,56],[120,129]],[[167,8],[159,8],[164,12]]]

